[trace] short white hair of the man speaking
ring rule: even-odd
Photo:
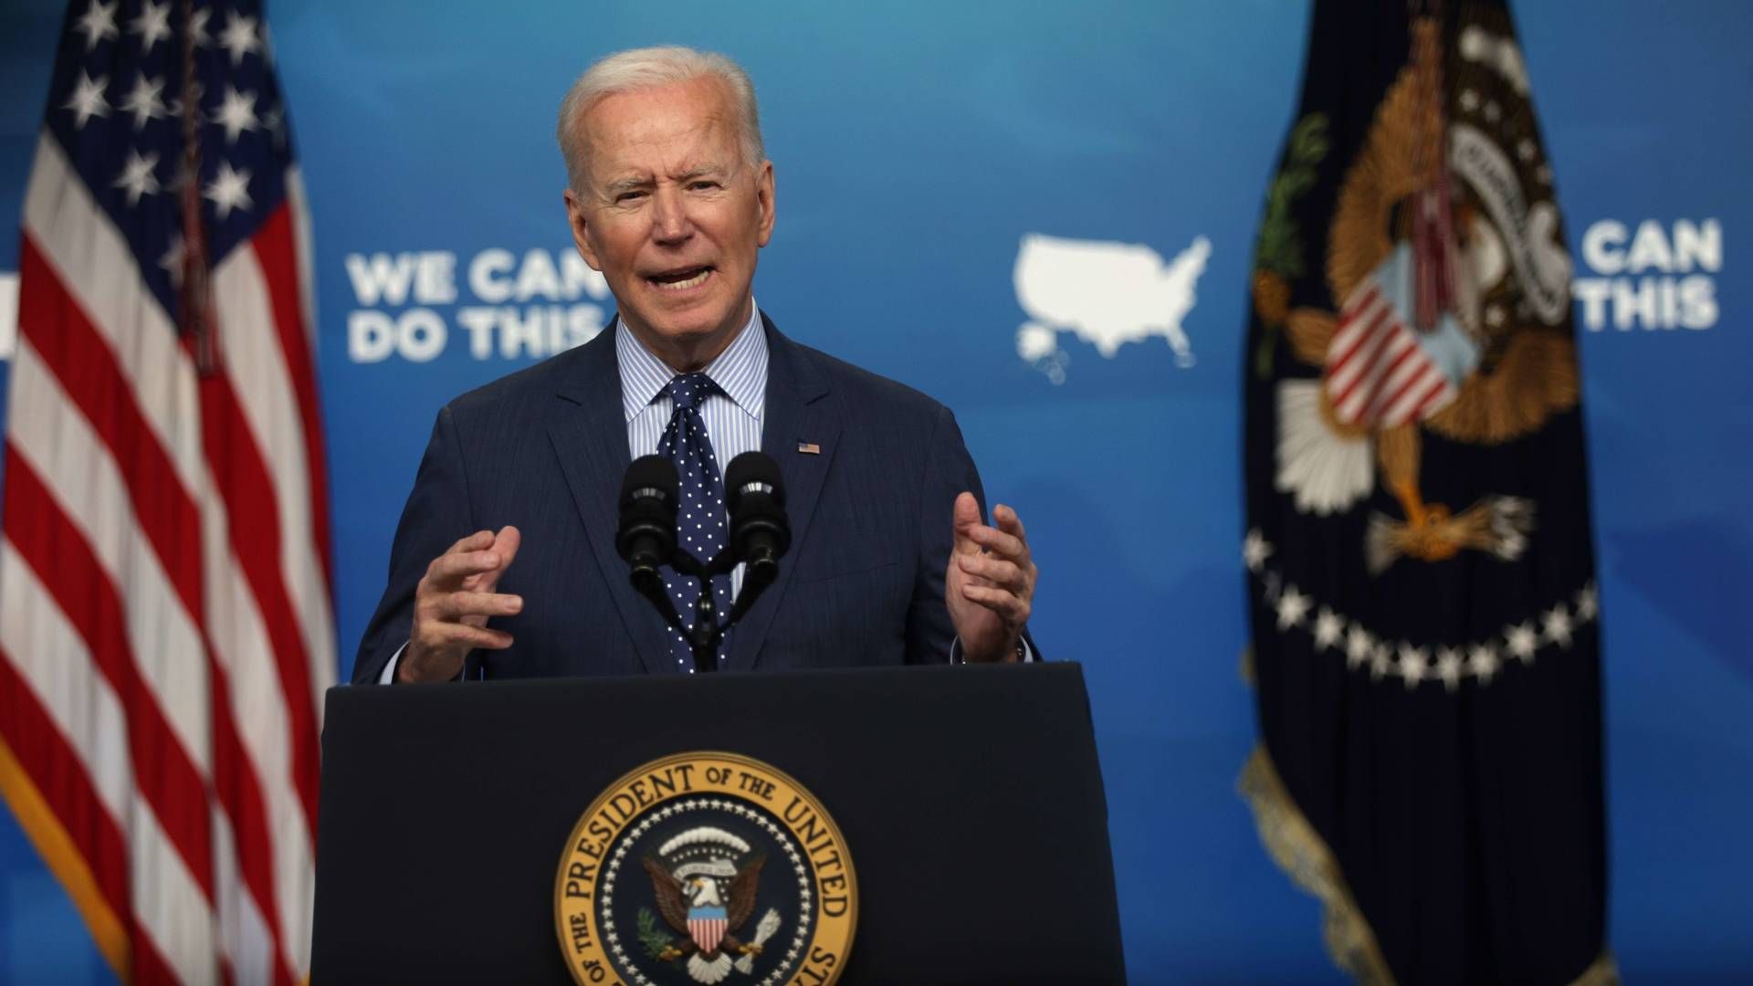
[[[559,140],[561,156],[566,158],[566,182],[571,189],[582,193],[589,175],[589,140],[580,132],[578,121],[593,105],[617,93],[656,89],[701,77],[719,79],[731,95],[743,163],[756,167],[766,160],[756,86],[740,65],[715,51],[694,51],[678,44],[633,47],[586,68],[559,104],[559,126],[554,137]]]

